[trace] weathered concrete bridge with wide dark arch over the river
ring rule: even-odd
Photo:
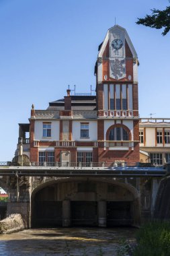
[[[138,226],[154,216],[167,174],[163,167],[103,163],[27,165],[0,164],[7,214],[21,213],[26,227]]]

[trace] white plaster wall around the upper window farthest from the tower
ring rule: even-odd
[[[48,121],[48,120],[47,120]],[[59,121],[50,121],[51,122],[51,137],[44,138],[43,135],[43,121],[35,121],[35,129],[34,129],[34,139],[37,140],[48,140],[48,141],[56,141],[59,140],[60,133],[60,122]]]

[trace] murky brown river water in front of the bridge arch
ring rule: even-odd
[[[0,235],[0,255],[116,256],[135,228],[29,229]]]

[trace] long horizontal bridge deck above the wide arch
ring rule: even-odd
[[[0,176],[30,177],[163,177],[163,167],[0,166]]]

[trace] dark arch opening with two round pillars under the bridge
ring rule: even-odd
[[[136,189],[113,181],[46,183],[32,194],[32,227],[136,226],[139,211]]]

